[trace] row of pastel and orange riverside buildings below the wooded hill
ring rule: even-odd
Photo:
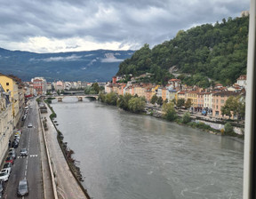
[[[213,117],[222,118],[226,116],[222,115],[221,107],[225,105],[230,96],[239,96],[240,100],[245,100],[245,88],[246,76],[237,78],[236,84],[232,86],[224,87],[221,84],[216,84],[208,89],[181,84],[180,79],[170,79],[165,86],[132,82],[116,83],[116,76],[114,76],[112,84],[105,85],[105,92],[116,92],[118,95],[137,94],[139,97],[144,97],[148,102],[154,95],[168,102],[179,99],[187,101],[189,99],[192,102],[191,110],[202,112],[202,110],[207,109]],[[236,115],[232,115],[231,118],[236,118]]]

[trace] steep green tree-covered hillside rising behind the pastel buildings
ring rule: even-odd
[[[145,44],[119,65],[117,75],[149,72],[154,76],[146,81],[166,84],[172,77],[169,68],[175,66],[186,84],[232,84],[246,74],[248,25],[248,17],[228,18],[180,30],[172,40],[153,49]]]

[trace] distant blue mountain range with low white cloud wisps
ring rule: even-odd
[[[44,76],[47,81],[107,82],[118,66],[134,51],[97,50],[88,52],[35,53],[0,48],[0,73],[30,81]]]

